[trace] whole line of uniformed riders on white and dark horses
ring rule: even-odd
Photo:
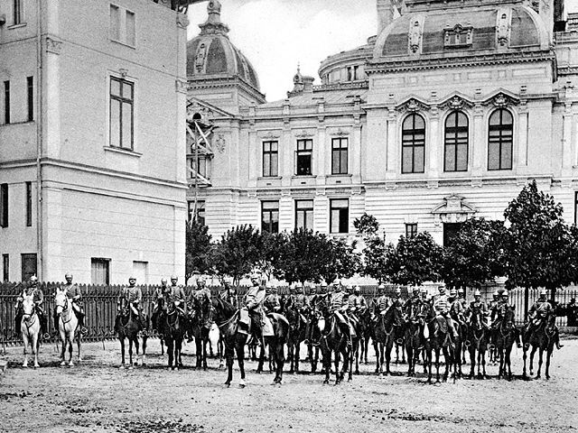
[[[54,323],[58,323],[62,340],[61,364],[66,364],[65,348],[69,347],[69,364],[72,364],[72,339],[81,334],[84,312],[81,294],[72,276],[66,275],[67,284],[56,293]],[[368,342],[372,341],[377,357],[376,373],[390,373],[391,350],[394,345],[406,350],[408,375],[415,375],[415,364],[420,355],[424,360],[424,373],[427,381],[432,381],[432,364],[435,364],[436,382],[440,381],[440,355],[445,359],[443,381],[452,370],[453,379],[461,377],[463,352],[469,351],[471,371],[474,375],[478,364],[478,376],[486,377],[485,355],[495,350],[499,357],[499,378],[511,380],[510,353],[517,344],[524,350],[524,377],[527,376],[527,350],[530,353],[530,375],[533,374],[533,358],[539,351],[538,371],[540,377],[543,353],[546,353],[545,377],[549,378],[550,357],[559,343],[558,329],[555,327],[555,312],[542,290],[539,299],[528,311],[530,321],[522,329],[515,325],[515,308],[508,302],[508,291],[499,299],[494,297],[489,306],[482,302],[480,291],[474,292],[474,299],[468,305],[463,290],[450,290],[439,286],[439,293],[428,297],[424,288],[414,287],[412,296],[405,301],[401,290],[396,289],[392,298],[387,297],[385,287],[378,287],[378,297],[368,305],[355,290],[344,290],[340,281],[330,285],[322,283],[319,290],[309,295],[303,293],[303,287],[290,288],[288,296],[279,296],[275,288],[268,283],[261,284],[261,276],[251,275],[252,287],[247,290],[245,306],[240,308],[237,291],[230,283],[219,296],[211,296],[205,281],[197,281],[197,290],[187,298],[175,276],[171,285],[163,279],[162,286],[154,295],[155,303],[152,317],[144,317],[141,300],[142,293],[135,285],[134,277],[118,296],[118,315],[115,330],[121,342],[122,364],[125,366],[125,338],[129,341],[129,365],[133,365],[132,346],[136,355],[139,352],[139,336],[142,337],[142,364],[145,362],[146,338],[149,331],[157,331],[167,346],[170,368],[182,365],[181,350],[185,337],[195,339],[197,345],[197,367],[207,368],[206,345],[212,323],[219,327],[219,343],[224,345],[227,361],[228,379],[232,381],[234,355],[237,355],[241,374],[241,386],[245,386],[245,346],[247,343],[260,344],[261,353],[257,372],[263,370],[266,346],[269,347],[269,366],[275,371],[275,383],[281,383],[285,363],[284,346],[288,347],[290,372],[299,370],[299,348],[301,343],[308,346],[312,372],[316,371],[319,352],[322,352],[324,382],[329,382],[331,360],[334,363],[336,383],[343,380],[345,373],[352,377],[353,362],[359,373],[359,355],[368,363]],[[33,347],[34,365],[37,362],[37,347],[40,338],[31,339],[33,318],[38,315],[38,335],[46,329],[45,315],[42,310],[43,295],[36,277],[31,279],[28,288],[23,290],[16,309],[17,332],[21,329],[24,340],[24,366],[27,364],[26,346],[30,341]],[[74,314],[72,314],[74,313]],[[32,324],[32,325],[31,325]],[[32,329],[33,330],[33,329]],[[79,360],[80,338],[78,337]],[[433,354],[435,359],[433,360]],[[341,370],[339,368],[342,358]],[[386,370],[384,371],[384,365]],[[129,367],[130,368],[130,367]]]

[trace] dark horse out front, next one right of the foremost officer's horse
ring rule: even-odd
[[[348,345],[348,336],[337,323],[338,318],[335,314],[329,314],[326,310],[323,318],[320,319],[319,327],[322,329],[321,349],[323,356],[323,369],[325,370],[325,380],[323,383],[329,383],[331,373],[331,354],[335,354],[335,384],[339,384],[349,373],[348,381],[351,381],[352,357],[351,352],[354,345],[357,345],[357,337],[351,338],[351,345]],[[349,324],[348,324],[349,326]],[[353,340],[356,340],[355,342]],[[340,356],[343,356],[343,364],[340,372]]]

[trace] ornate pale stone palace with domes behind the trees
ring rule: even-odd
[[[503,219],[536,179],[573,222],[578,16],[563,0],[377,3],[378,34],[322,60],[321,85],[297,71],[265,102],[210,2],[187,46],[190,217],[213,235],[355,235],[367,212],[390,241],[443,244],[468,217]]]

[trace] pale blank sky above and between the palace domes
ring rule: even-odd
[[[286,97],[297,64],[315,78],[322,60],[366,43],[378,29],[376,0],[220,0],[230,40],[253,64],[268,101]],[[566,0],[578,13],[578,0]],[[207,19],[207,4],[189,8],[189,39]]]

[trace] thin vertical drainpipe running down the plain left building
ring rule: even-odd
[[[39,281],[43,277],[42,256],[42,0],[36,2],[36,265]]]

